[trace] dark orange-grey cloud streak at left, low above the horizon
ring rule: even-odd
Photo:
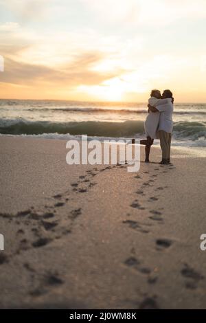
[[[93,64],[98,63],[102,57],[103,55],[98,52],[86,52],[77,56],[72,63],[62,66],[60,70],[5,58],[5,71],[1,74],[0,81],[16,85],[43,83],[54,87],[95,85],[121,73],[121,71],[113,73],[91,71]]]

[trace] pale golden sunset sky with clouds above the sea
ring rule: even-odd
[[[0,98],[206,102],[205,0],[0,0]]]

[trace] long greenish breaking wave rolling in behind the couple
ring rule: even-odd
[[[49,122],[29,121],[25,119],[0,119],[0,133],[4,135],[41,135],[43,133],[58,133],[60,135],[89,135],[104,137],[131,137],[144,134],[144,122]],[[205,122],[175,122],[174,135],[176,139],[198,140],[206,139]]]

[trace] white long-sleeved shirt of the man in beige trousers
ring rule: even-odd
[[[173,113],[173,104],[172,99],[161,99],[159,102],[155,103],[154,106],[159,110],[159,130],[163,130],[166,133],[172,133],[173,129],[173,121],[172,121],[172,113]],[[158,112],[157,112],[158,113]]]

